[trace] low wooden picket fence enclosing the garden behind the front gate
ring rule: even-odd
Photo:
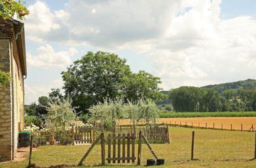
[[[147,141],[151,144],[163,144],[170,143],[168,126],[154,126],[154,127],[117,127],[115,132],[112,129],[100,129],[97,130],[94,127],[74,127],[63,129],[49,129],[32,131],[31,135],[34,136],[34,144],[37,146],[47,145],[79,145],[93,143],[95,138],[101,133],[104,133],[105,137],[109,134],[134,134],[138,136],[139,132],[145,135]],[[106,144],[107,142],[105,142]],[[138,144],[138,139],[135,139],[135,143]]]

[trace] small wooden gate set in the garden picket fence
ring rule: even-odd
[[[92,143],[94,140],[94,130],[92,127],[75,127],[75,144]]]

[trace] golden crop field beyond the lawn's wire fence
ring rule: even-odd
[[[119,120],[119,125],[129,125],[130,120]],[[215,129],[226,129],[231,130],[231,124],[232,124],[232,130],[241,130],[241,124],[242,130],[246,131],[253,127],[256,129],[256,117],[199,117],[199,118],[160,118],[157,121],[158,124],[161,123],[167,123],[174,125],[176,123],[177,126],[180,124],[182,126],[192,126],[194,128],[214,128]],[[207,123],[207,124],[206,124]],[[140,122],[139,124],[145,124],[143,122]],[[254,130],[255,131],[255,130]]]

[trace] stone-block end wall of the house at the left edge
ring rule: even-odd
[[[0,39],[0,69],[10,73],[10,41]],[[11,85],[0,85],[0,162],[12,159]]]

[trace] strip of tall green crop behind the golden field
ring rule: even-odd
[[[256,117],[256,111],[248,112],[187,112],[158,113],[159,118],[191,118],[191,117]]]

